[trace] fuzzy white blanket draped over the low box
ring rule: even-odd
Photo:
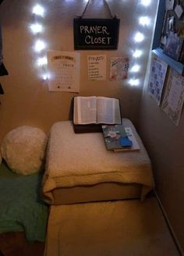
[[[51,127],[43,193],[53,202],[51,191],[58,187],[87,186],[97,183],[139,183],[143,198],[154,187],[150,158],[132,128],[140,151],[113,152],[105,148],[102,133],[74,133],[71,121],[55,123]]]

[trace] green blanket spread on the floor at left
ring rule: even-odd
[[[0,165],[0,233],[24,231],[28,241],[44,242],[48,205],[41,200],[43,172],[23,176]]]

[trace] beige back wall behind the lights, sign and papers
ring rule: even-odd
[[[38,1],[39,2],[39,1]],[[5,0],[0,7],[0,20],[3,32],[3,53],[5,66],[9,76],[0,77],[5,95],[0,96],[0,141],[12,128],[22,125],[31,125],[48,131],[53,123],[69,119],[69,105],[73,93],[49,92],[48,84],[42,81],[39,69],[35,62],[37,56],[33,50],[36,38],[43,38],[47,49],[73,51],[73,18],[80,16],[87,3],[85,0],[52,0],[40,1],[45,7],[45,16],[39,18],[44,25],[44,32],[40,35],[30,33],[29,26],[34,21],[31,9],[36,1]],[[143,57],[140,78],[140,87],[130,87],[127,81],[112,82],[87,80],[87,55],[107,55],[107,67],[111,56],[129,55],[136,45],[131,37],[137,27],[137,17],[141,12],[136,0],[108,1],[113,15],[121,20],[119,31],[119,49],[115,51],[77,51],[80,52],[80,95],[114,96],[121,100],[122,114],[136,124],[137,112],[142,94],[143,79],[147,65],[147,53],[150,47],[151,30],[142,47]],[[154,16],[156,1],[152,7],[143,12]],[[154,11],[153,11],[154,9]],[[108,9],[103,1],[91,0],[87,9],[86,18],[109,18]],[[38,20],[39,20],[38,19]],[[143,29],[143,28],[142,28]],[[46,53],[46,52],[45,52]],[[109,70],[107,69],[108,74]]]

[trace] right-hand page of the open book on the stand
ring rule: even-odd
[[[119,99],[97,97],[97,123],[122,123]]]

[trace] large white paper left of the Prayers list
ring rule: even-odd
[[[80,91],[80,53],[48,51],[48,90]]]

